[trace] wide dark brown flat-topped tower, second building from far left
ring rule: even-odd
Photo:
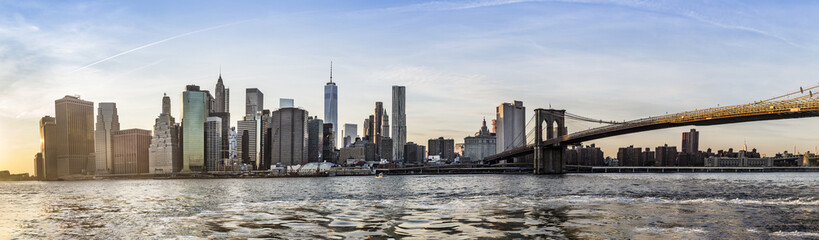
[[[79,96],[65,96],[54,105],[58,177],[94,174],[94,103]]]

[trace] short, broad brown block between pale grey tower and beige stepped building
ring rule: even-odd
[[[126,129],[111,133],[114,174],[148,173],[148,146],[151,131]]]

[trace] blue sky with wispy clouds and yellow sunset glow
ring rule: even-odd
[[[463,142],[513,100],[527,119],[551,106],[614,121],[748,103],[819,84],[816,12],[815,1],[0,0],[0,170],[33,172],[38,120],[65,95],[115,102],[122,129],[151,129],[164,93],[179,119],[185,85],[212,91],[221,72],[232,120],[245,88],[266,108],[293,98],[324,118],[330,61],[340,123],[361,131],[404,85],[408,141],[424,145]],[[616,156],[679,146],[688,128],[585,144]],[[819,119],[696,128],[702,150],[819,145]]]

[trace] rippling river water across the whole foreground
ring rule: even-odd
[[[819,239],[819,173],[0,182],[0,239]]]

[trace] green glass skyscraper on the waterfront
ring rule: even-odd
[[[199,86],[188,85],[182,92],[182,170],[205,170],[205,120],[210,97]]]

